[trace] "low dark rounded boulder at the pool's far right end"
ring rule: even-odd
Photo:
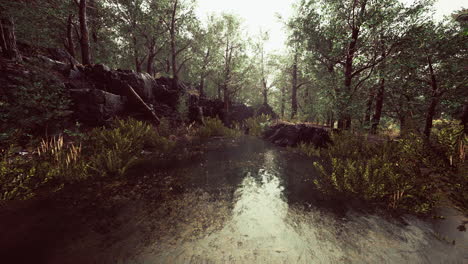
[[[282,147],[294,147],[300,143],[326,147],[328,143],[331,143],[327,130],[306,124],[277,124],[267,129],[264,138]]]

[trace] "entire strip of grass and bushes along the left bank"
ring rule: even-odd
[[[64,142],[61,135],[42,140],[37,150],[21,156],[11,146],[0,153],[0,200],[28,199],[43,188],[60,189],[87,178],[123,177],[144,158],[143,150],[167,154],[174,141],[151,125],[134,119],[114,120],[95,128],[81,143]]]

